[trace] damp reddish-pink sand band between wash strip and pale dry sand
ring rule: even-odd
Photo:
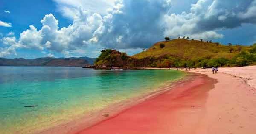
[[[76,134],[191,134],[204,115],[207,92],[216,81],[206,75],[179,84]]]

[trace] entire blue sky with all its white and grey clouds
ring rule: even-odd
[[[0,57],[133,55],[164,37],[256,43],[256,0],[0,0]]]

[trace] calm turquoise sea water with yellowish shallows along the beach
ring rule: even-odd
[[[134,98],[184,74],[176,70],[0,67],[0,134],[29,134]],[[38,105],[37,107],[24,107]]]

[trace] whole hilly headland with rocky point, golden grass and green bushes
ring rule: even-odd
[[[256,44],[221,45],[218,42],[173,39],[157,42],[147,50],[127,56],[116,50],[102,50],[94,68],[105,67],[240,67],[256,64]]]

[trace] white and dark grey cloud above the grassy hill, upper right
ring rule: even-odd
[[[166,14],[165,36],[191,36],[196,39],[219,39],[220,29],[232,29],[243,23],[256,24],[256,0],[198,0],[190,12]]]

